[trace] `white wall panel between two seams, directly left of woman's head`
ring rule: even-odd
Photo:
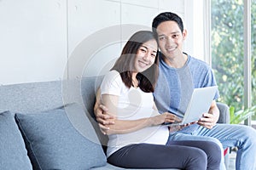
[[[68,2],[69,78],[81,77],[83,74],[95,76],[98,69],[105,65],[104,59],[113,59],[113,56],[120,51],[119,25],[118,2],[106,0]],[[113,42],[115,45],[110,45]],[[99,51],[104,53],[95,55]],[[98,57],[99,60],[96,60]],[[88,67],[88,62],[92,58],[96,58],[93,59],[95,63],[90,65],[97,67]],[[86,67],[85,73],[81,72],[84,67]]]

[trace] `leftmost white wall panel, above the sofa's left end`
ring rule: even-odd
[[[60,79],[67,62],[66,1],[0,1],[1,84]]]

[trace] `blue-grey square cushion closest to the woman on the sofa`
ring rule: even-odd
[[[106,164],[102,145],[96,139],[83,108],[66,105],[51,111],[15,114],[32,163],[41,169],[90,169]]]

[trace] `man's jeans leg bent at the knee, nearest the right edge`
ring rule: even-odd
[[[212,130],[201,127],[197,134],[218,139],[226,147],[237,147],[236,170],[255,170],[256,130],[253,127],[234,124],[217,124]]]

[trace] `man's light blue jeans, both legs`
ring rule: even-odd
[[[234,124],[217,124],[212,129],[198,127],[194,132],[177,131],[170,133],[171,140],[207,140],[220,144],[224,149],[237,147],[236,170],[255,170],[256,130],[253,127]],[[224,159],[222,159],[222,168]]]

